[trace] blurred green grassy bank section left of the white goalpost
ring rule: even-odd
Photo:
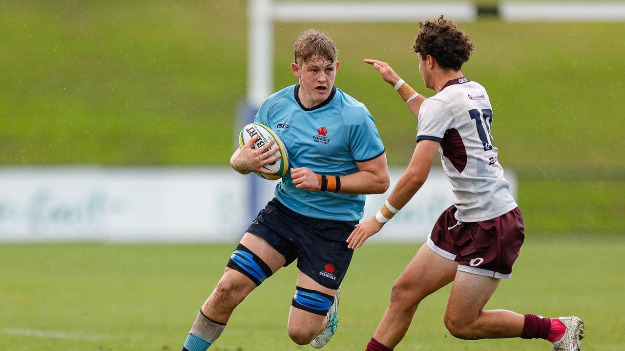
[[[243,4],[5,3],[0,162],[222,164],[245,89],[245,27],[228,29]]]

